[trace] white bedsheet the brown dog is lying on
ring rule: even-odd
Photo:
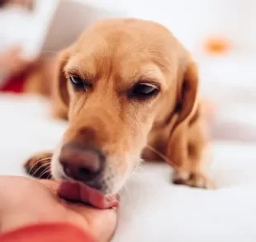
[[[24,175],[22,161],[52,149],[65,123],[47,118],[48,104],[0,95],[0,173]],[[214,142],[211,175],[218,189],[170,184],[168,165],[143,165],[121,193],[114,242],[256,241],[256,145]]]

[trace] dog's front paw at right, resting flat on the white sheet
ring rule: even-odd
[[[215,188],[215,184],[206,175],[177,170],[173,173],[173,184],[183,184],[193,188]]]

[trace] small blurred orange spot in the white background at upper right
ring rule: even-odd
[[[204,49],[209,54],[225,54],[231,49],[231,42],[225,37],[211,36],[206,39]]]

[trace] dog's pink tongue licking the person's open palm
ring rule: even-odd
[[[59,185],[58,194],[60,198],[88,203],[101,209],[118,207],[119,205],[115,195],[104,195],[96,189],[75,181],[62,181]]]

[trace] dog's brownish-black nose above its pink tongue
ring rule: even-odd
[[[62,148],[59,162],[65,175],[84,183],[96,181],[104,170],[106,156],[96,147],[69,142]]]

